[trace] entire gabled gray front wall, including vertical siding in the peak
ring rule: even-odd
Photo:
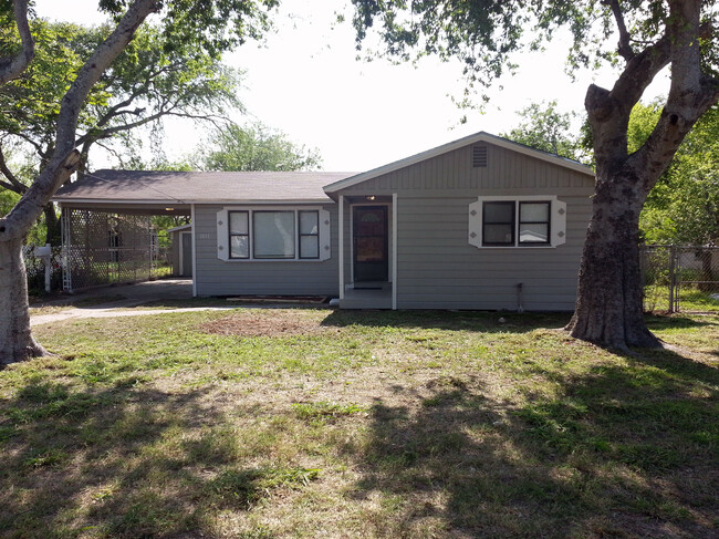
[[[399,309],[515,310],[522,283],[525,310],[572,310],[593,190],[587,175],[488,145],[484,168],[472,167],[468,146],[338,194],[397,193]],[[555,248],[469,245],[469,204],[497,195],[555,195],[565,201],[566,242]]]

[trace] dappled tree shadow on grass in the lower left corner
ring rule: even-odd
[[[212,537],[217,511],[313,478],[238,466],[237,437],[205,396],[22,387],[0,406],[0,537]]]

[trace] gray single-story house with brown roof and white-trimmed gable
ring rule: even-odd
[[[481,132],[361,174],[98,170],[54,200],[67,227],[72,211],[189,215],[195,296],[572,310],[593,190],[591,168]]]

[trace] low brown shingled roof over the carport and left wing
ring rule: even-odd
[[[323,187],[356,173],[156,172],[102,169],[64,186],[56,203],[333,203]]]

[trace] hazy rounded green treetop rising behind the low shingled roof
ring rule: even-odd
[[[312,170],[322,165],[317,149],[259,123],[217,128],[195,162],[205,170]]]

